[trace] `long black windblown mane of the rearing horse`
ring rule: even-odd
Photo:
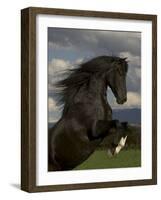
[[[58,81],[55,84],[56,95],[58,97],[58,105],[68,104],[79,88],[89,83],[91,77],[96,74],[103,74],[114,67],[118,61],[125,62],[125,71],[127,72],[126,58],[115,56],[99,56],[79,65],[75,69],[68,70],[67,78]]]

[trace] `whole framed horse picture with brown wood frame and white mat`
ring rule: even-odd
[[[21,189],[157,183],[157,16],[21,11]]]

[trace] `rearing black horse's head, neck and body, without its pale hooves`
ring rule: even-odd
[[[127,100],[126,58],[100,56],[57,83],[60,103],[64,104],[61,119],[49,130],[49,171],[71,170],[86,160],[116,128],[107,102],[110,87],[118,104]]]

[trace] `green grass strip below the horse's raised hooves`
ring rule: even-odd
[[[139,149],[122,150],[114,157],[108,157],[107,151],[96,150],[85,162],[75,170],[105,169],[141,166],[141,151]]]

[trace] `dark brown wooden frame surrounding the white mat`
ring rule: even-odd
[[[38,14],[152,21],[152,179],[36,186],[36,16]],[[53,8],[21,10],[21,189],[27,192],[157,184],[157,16]]]

